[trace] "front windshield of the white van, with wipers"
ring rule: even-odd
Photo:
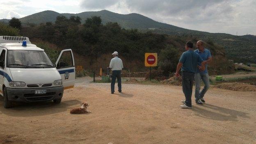
[[[8,50],[7,66],[10,68],[55,67],[44,51],[37,50]]]

